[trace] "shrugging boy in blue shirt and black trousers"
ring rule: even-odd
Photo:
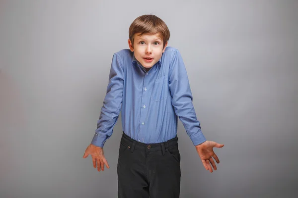
[[[113,55],[107,94],[97,130],[83,158],[91,154],[98,171],[109,168],[103,146],[122,109],[117,165],[118,198],[179,198],[180,153],[177,116],[206,170],[219,163],[196,118],[182,57],[167,47],[170,32],[155,15],[143,15],[129,28],[129,49]],[[122,106],[121,106],[122,104]],[[213,157],[213,158],[212,158]]]

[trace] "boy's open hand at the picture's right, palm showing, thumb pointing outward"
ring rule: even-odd
[[[195,146],[197,149],[197,152],[202,160],[202,163],[206,170],[209,170],[211,173],[213,172],[212,167],[210,163],[212,164],[214,170],[217,170],[217,167],[215,165],[214,160],[212,157],[216,160],[217,163],[220,163],[220,160],[218,156],[214,153],[213,148],[222,148],[224,145],[221,145],[216,142],[212,141],[205,141],[204,143]]]

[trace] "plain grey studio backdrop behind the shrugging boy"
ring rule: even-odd
[[[1,0],[0,198],[116,198],[121,114],[83,159],[112,55],[142,14],[168,25],[221,163],[206,171],[178,123],[181,198],[298,193],[297,0]],[[129,182],[129,178],[128,178]]]

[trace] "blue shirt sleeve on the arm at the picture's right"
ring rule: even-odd
[[[181,120],[194,146],[200,145],[206,141],[206,138],[201,131],[200,121],[197,120],[186,68],[177,49],[171,58],[169,76],[169,89],[175,113]]]

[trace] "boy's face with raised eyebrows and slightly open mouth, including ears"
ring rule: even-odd
[[[159,34],[135,34],[134,46],[131,40],[128,40],[128,45],[131,51],[134,51],[136,59],[146,68],[152,67],[164,52],[166,45],[163,47],[162,39]]]

